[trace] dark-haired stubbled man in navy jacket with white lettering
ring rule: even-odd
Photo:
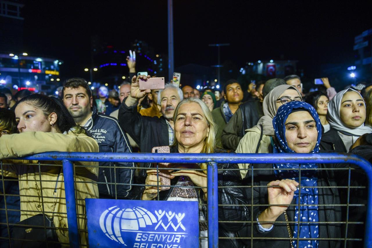
[[[62,97],[76,124],[84,127],[97,141],[99,152],[131,152],[128,138],[119,126],[118,120],[97,113],[96,107],[93,106],[92,92],[84,79],[68,79],[62,89]],[[120,167],[134,168],[134,163],[100,162],[99,166],[109,166],[99,168],[98,182],[104,182],[98,184],[99,197],[114,199],[128,197],[129,191],[132,189],[131,185],[115,185],[113,183],[133,183],[134,169]]]

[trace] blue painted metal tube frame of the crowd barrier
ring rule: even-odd
[[[87,162],[170,162],[170,163],[207,163],[208,192],[208,247],[218,247],[218,168],[217,163],[344,163],[363,169],[368,178],[368,204],[365,221],[364,246],[372,247],[372,165],[355,155],[338,153],[318,154],[194,154],[194,153],[81,153],[48,152],[17,159],[62,161],[64,188],[67,206],[68,233],[71,247],[79,246],[78,222],[76,210],[74,165],[75,161]],[[350,177],[350,174],[349,174]],[[350,188],[350,185],[349,185]],[[5,197],[5,195],[4,195]],[[253,203],[248,205],[253,207]],[[242,220],[244,221],[244,220]],[[249,221],[253,223],[253,220]],[[253,225],[253,224],[252,224]]]

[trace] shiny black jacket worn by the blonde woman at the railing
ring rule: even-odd
[[[171,147],[172,153],[177,153],[177,148]],[[224,151],[219,151],[224,152]],[[144,167],[150,168],[151,163],[146,163]],[[218,169],[238,169],[235,163],[219,163]],[[139,183],[144,184],[147,174],[145,170],[140,171]],[[171,180],[171,185],[177,183],[179,177]],[[218,171],[218,187],[229,186],[228,188],[218,188],[218,204],[226,205],[239,205],[247,204],[247,197],[243,188],[236,187],[241,185],[241,176],[238,170]],[[132,198],[140,200],[142,193],[145,190],[144,186],[135,187],[132,191]],[[164,190],[159,192],[160,200],[167,200],[171,190]],[[154,200],[156,200],[155,198]],[[206,204],[203,200],[203,191],[200,190],[199,203]],[[202,205],[203,215],[206,217],[206,206]],[[226,206],[218,207],[218,220],[219,221],[242,221],[247,220],[249,217],[248,208],[245,206]],[[206,219],[206,218],[205,218]],[[237,232],[244,227],[245,223],[219,223],[219,236],[220,237],[236,237]],[[237,239],[219,239],[219,247],[227,248],[242,248],[243,244]]]

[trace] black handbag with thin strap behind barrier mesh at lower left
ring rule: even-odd
[[[53,213],[52,217],[49,217],[47,214],[37,214],[25,220],[22,220],[13,227],[12,239],[14,240],[14,247],[24,247],[24,248],[33,248],[33,247],[52,247],[60,248],[61,245],[58,243],[57,232],[53,223],[54,210],[56,204],[56,193],[57,193],[57,181],[55,182],[54,188],[54,202],[53,202]],[[34,177],[35,178],[35,177]],[[36,183],[36,178],[35,178]],[[37,185],[36,185],[37,186]],[[22,226],[17,226],[22,225]],[[47,244],[47,241],[48,244]],[[57,243],[55,243],[57,242]]]

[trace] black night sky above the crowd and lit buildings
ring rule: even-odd
[[[237,66],[247,61],[299,60],[305,74],[326,63],[353,64],[354,37],[372,28],[372,1],[282,3],[276,1],[174,1],[174,63]],[[167,2],[25,1],[24,46],[29,54],[64,60],[62,77],[84,76],[90,37],[127,50],[141,39],[167,54]]]

